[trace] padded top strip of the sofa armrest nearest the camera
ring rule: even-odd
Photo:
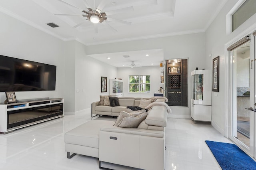
[[[148,129],[138,129],[138,128],[123,128],[123,127],[102,127],[100,131],[105,132],[118,132],[118,133],[125,133],[125,134],[134,134],[140,136],[150,136],[150,137],[157,137],[157,138],[164,138],[164,131],[162,130],[148,130]]]

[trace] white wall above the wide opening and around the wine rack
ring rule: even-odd
[[[205,67],[205,34],[188,34],[147,40],[90,45],[86,47],[88,55],[114,53],[122,51],[139,51],[146,49],[163,49],[164,59],[189,58],[188,60],[188,107],[171,107],[173,117],[190,118],[190,99],[192,95],[191,71]],[[158,71],[159,72],[159,71]],[[118,73],[118,75],[120,75]]]

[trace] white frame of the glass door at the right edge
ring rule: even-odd
[[[252,69],[250,69],[250,107],[252,107],[253,109],[256,108],[256,106],[254,105],[255,103],[255,94],[254,94],[254,90],[256,89],[256,83],[255,83],[255,75],[256,75],[256,69],[255,69],[255,43],[254,43],[254,36],[251,34],[250,35],[250,67]],[[253,54],[253,55],[252,55]],[[233,111],[233,101],[234,101],[234,95],[233,95],[233,69],[234,69],[234,65],[233,65],[233,51],[228,51],[228,61],[227,61],[227,70],[226,73],[228,75],[228,83],[227,83],[227,91],[226,91],[226,103],[228,104],[228,109],[227,111],[227,116],[226,117],[226,125],[225,125],[225,136],[230,138],[230,140],[232,140],[232,142],[234,142],[236,145],[238,145],[240,148],[242,148],[242,150],[244,150],[245,152],[247,152],[250,156],[255,157],[256,154],[254,154],[254,150],[256,149],[256,141],[254,141],[254,137],[255,137],[255,125],[254,122],[256,121],[256,117],[255,117],[255,113],[253,111],[250,111],[250,147],[246,146],[245,144],[243,144],[242,142],[240,142],[240,140],[238,140],[237,138],[235,138],[232,133],[233,133],[233,115],[232,111]],[[254,76],[252,76],[254,75]]]

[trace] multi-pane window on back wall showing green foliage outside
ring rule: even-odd
[[[150,93],[150,75],[129,75],[130,93]]]

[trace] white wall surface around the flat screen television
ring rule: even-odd
[[[0,12],[0,55],[56,65],[55,91],[15,92],[17,99],[63,97],[65,43]],[[0,92],[0,103],[6,100]]]

